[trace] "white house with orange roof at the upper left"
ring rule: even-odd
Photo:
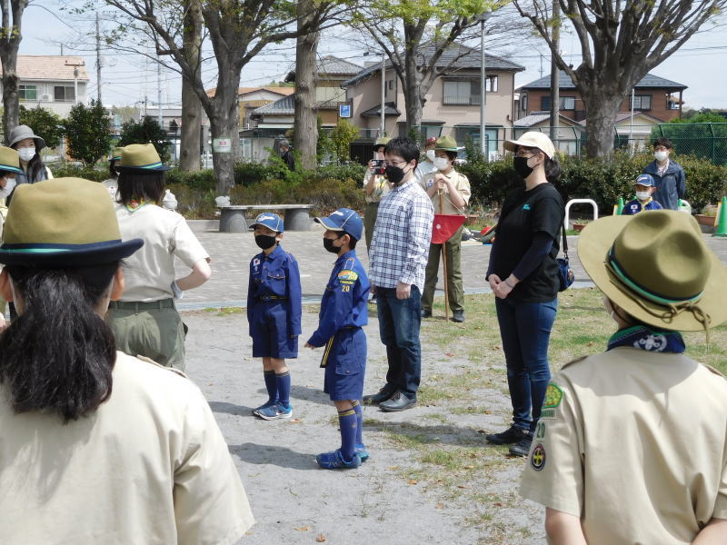
[[[81,57],[19,54],[16,73],[18,99],[26,108],[41,106],[65,117],[74,104],[85,104],[89,78]]]

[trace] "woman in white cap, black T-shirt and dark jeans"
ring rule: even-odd
[[[524,185],[505,198],[485,278],[495,295],[513,424],[485,438],[497,445],[514,443],[510,453],[527,456],[551,378],[548,343],[560,286],[555,258],[565,213],[553,186],[561,167],[550,138],[529,132],[505,141],[505,149],[515,153],[513,164]]]

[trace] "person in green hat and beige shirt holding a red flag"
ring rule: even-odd
[[[433,163],[436,170],[424,176],[420,182],[423,190],[432,199],[434,213],[463,215],[470,202],[470,181],[464,174],[454,170],[453,162],[457,158],[457,143],[452,136],[443,136],[434,144]],[[440,210],[440,194],[443,207]],[[444,243],[447,253],[447,296],[449,308],[452,309],[453,322],[464,322],[464,290],[462,285],[462,266],[460,250],[462,248],[463,226]],[[422,294],[422,318],[432,316],[432,302],[437,287],[439,258],[442,244],[429,246],[429,261],[426,265],[426,280]]]

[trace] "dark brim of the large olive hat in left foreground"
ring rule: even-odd
[[[132,239],[113,245],[68,250],[65,252],[29,253],[0,248],[0,263],[46,268],[72,268],[114,263],[136,252],[144,245],[142,239]]]

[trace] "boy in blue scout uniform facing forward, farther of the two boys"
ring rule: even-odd
[[[283,220],[261,213],[251,225],[255,243],[263,250],[250,262],[247,321],[253,337],[253,357],[263,358],[268,400],[253,410],[264,420],[290,418],[290,372],[285,358],[298,357],[301,334],[301,275],[291,253],[280,246]]]

